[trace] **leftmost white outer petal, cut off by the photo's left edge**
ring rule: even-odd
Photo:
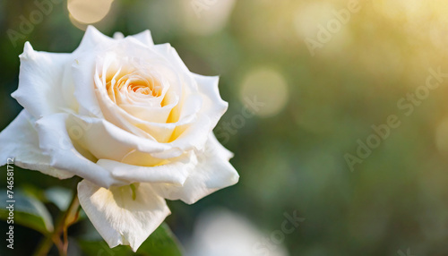
[[[50,166],[50,158],[39,149],[38,132],[34,129],[32,117],[22,110],[8,127],[0,133],[0,166],[7,158],[14,158],[14,165],[26,169],[39,170],[43,174],[60,179],[70,178],[73,174]]]

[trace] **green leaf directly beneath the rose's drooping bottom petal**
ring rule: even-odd
[[[108,243],[104,241],[78,241],[78,245],[82,248],[85,255],[114,255],[114,256],[181,256],[181,246],[177,238],[168,225],[163,223],[160,225],[140,246],[138,251],[134,253],[131,247],[120,245],[115,248],[109,248]]]

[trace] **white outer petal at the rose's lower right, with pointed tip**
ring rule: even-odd
[[[182,200],[192,204],[202,197],[238,182],[239,175],[228,162],[228,150],[211,138],[202,152],[198,165],[182,187],[172,184],[153,184],[154,189],[168,200]]]

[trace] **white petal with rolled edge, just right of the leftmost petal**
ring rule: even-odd
[[[39,148],[51,158],[50,166],[69,171],[104,187],[125,184],[113,178],[108,170],[82,155],[79,148],[75,148],[67,132],[67,117],[68,114],[54,114],[42,117],[36,122]]]

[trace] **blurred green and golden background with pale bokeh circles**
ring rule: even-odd
[[[25,41],[72,52],[87,23],[109,36],[149,29],[192,72],[220,75],[229,103],[215,133],[235,152],[239,183],[169,203],[189,255],[447,255],[447,14],[443,0],[1,0],[0,128],[22,109],[10,94]],[[390,115],[400,125],[375,141],[372,126]],[[15,184],[73,181],[16,169]],[[284,234],[294,215],[305,220]],[[90,229],[73,226],[73,244]],[[41,238],[15,234],[16,255]],[[120,255],[108,252],[98,255]]]

